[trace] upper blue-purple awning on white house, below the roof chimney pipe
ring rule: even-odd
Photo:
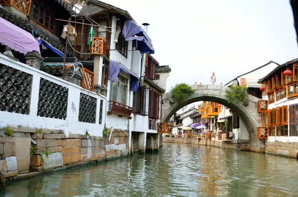
[[[136,40],[137,50],[141,54],[149,53],[154,54],[154,49],[152,47],[152,42],[144,29],[132,20],[126,20],[123,26],[122,35],[125,40]]]

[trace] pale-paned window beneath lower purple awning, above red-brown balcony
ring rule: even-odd
[[[126,98],[127,98],[127,79],[122,75],[118,75],[116,81],[111,82],[110,100],[126,105]],[[111,107],[112,106],[110,106],[110,108]]]

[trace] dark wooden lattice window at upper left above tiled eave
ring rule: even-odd
[[[41,6],[41,0],[32,0],[32,3],[33,3],[33,13],[32,13],[32,20],[37,22],[38,24],[42,25],[42,27],[46,28],[47,30],[51,31],[51,32],[55,32],[55,9],[50,6],[50,4],[47,2],[47,1],[42,1],[44,3],[43,7],[44,7],[44,17],[43,17],[43,22],[41,23],[40,22],[40,14],[41,14],[41,10],[40,10],[40,6]],[[37,3],[38,4],[38,12],[37,13],[34,13],[34,4]],[[50,9],[48,9],[50,8]],[[49,25],[46,26],[45,23],[46,23],[46,11],[48,11],[50,13],[49,15]],[[34,15],[37,16],[37,20],[34,19]],[[53,18],[51,17],[53,15]],[[51,25],[51,21],[53,21],[53,25]],[[51,26],[53,26],[53,29],[51,29]]]

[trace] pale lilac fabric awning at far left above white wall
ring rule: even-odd
[[[23,54],[27,54],[30,51],[37,51],[40,53],[38,42],[29,32],[1,17],[0,44]]]

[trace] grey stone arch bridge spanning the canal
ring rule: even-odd
[[[262,147],[262,141],[257,139],[257,128],[261,126],[261,114],[257,112],[257,97],[249,96],[248,105],[242,103],[227,102],[223,85],[197,85],[195,92],[187,98],[186,102],[177,102],[171,93],[166,93],[163,98],[162,119],[160,122],[168,122],[169,119],[182,107],[197,101],[212,101],[220,103],[235,112],[249,132],[250,146]],[[245,131],[246,132],[246,131]]]

